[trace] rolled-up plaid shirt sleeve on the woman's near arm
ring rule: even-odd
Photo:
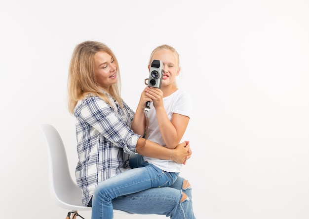
[[[131,113],[125,110],[118,115],[114,109],[98,96],[90,96],[84,100],[79,111],[80,119],[98,130],[108,141],[123,148],[125,153],[136,152],[136,144],[140,135],[135,134],[127,124]]]

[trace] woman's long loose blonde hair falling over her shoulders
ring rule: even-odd
[[[119,103],[121,108],[122,99],[120,97],[120,72],[119,65],[113,51],[105,44],[96,41],[84,41],[78,44],[73,52],[69,67],[68,93],[69,112],[74,114],[74,109],[78,100],[87,94],[101,97],[108,104],[112,105],[109,98],[102,92],[102,88],[97,83],[94,73],[94,55],[97,52],[106,52],[114,58],[117,66],[118,81],[110,86],[108,93]]]

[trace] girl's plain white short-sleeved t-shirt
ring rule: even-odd
[[[193,103],[190,94],[185,91],[177,90],[173,94],[163,98],[163,104],[165,108],[166,115],[169,120],[172,119],[173,113],[191,117]],[[153,102],[150,104],[150,110],[148,112],[149,125],[147,131],[147,139],[166,147],[162,135],[160,133],[159,125],[156,119],[155,109]],[[185,134],[184,134],[185,136]],[[183,139],[184,139],[183,136]],[[183,141],[181,139],[180,142]],[[160,169],[168,172],[179,173],[182,164],[176,163],[172,160],[157,159],[153,157],[144,156],[145,161],[154,164]]]

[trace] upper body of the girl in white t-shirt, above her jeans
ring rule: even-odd
[[[179,75],[179,54],[169,45],[161,45],[151,54],[148,68],[153,60],[160,60],[164,65],[161,89],[146,87],[141,94],[131,128],[143,134],[159,145],[174,149],[181,142],[192,112],[191,96],[177,88],[176,76]],[[145,101],[151,99],[150,109],[145,112]],[[149,121],[148,121],[149,120]],[[148,125],[149,124],[149,125]],[[147,163],[153,164],[163,171],[179,174],[182,164],[169,159],[157,159],[144,156]]]

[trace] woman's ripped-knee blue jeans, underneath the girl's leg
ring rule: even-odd
[[[137,159],[140,157],[137,157]],[[141,162],[130,163],[132,168]],[[112,200],[114,209],[141,215],[165,215],[170,219],[195,219],[192,205],[192,189],[184,185],[187,180],[178,177],[170,187],[150,188],[140,192],[119,196]],[[190,184],[189,184],[190,185]],[[188,197],[181,202],[183,193]],[[92,205],[92,199],[89,206]],[[93,213],[93,211],[92,211]]]

